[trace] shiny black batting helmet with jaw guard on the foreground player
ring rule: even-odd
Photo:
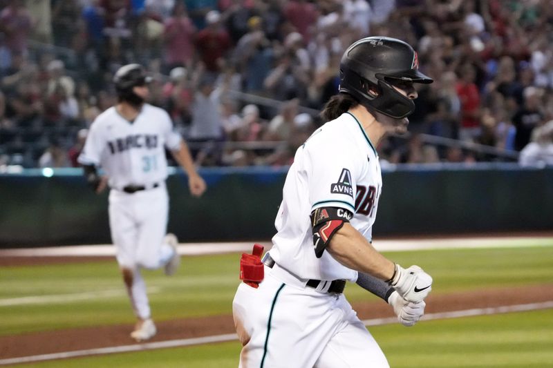
[[[366,37],[341,57],[339,92],[352,95],[371,112],[401,119],[415,111],[415,103],[392,84],[432,83],[418,68],[417,52],[408,43],[391,37]]]

